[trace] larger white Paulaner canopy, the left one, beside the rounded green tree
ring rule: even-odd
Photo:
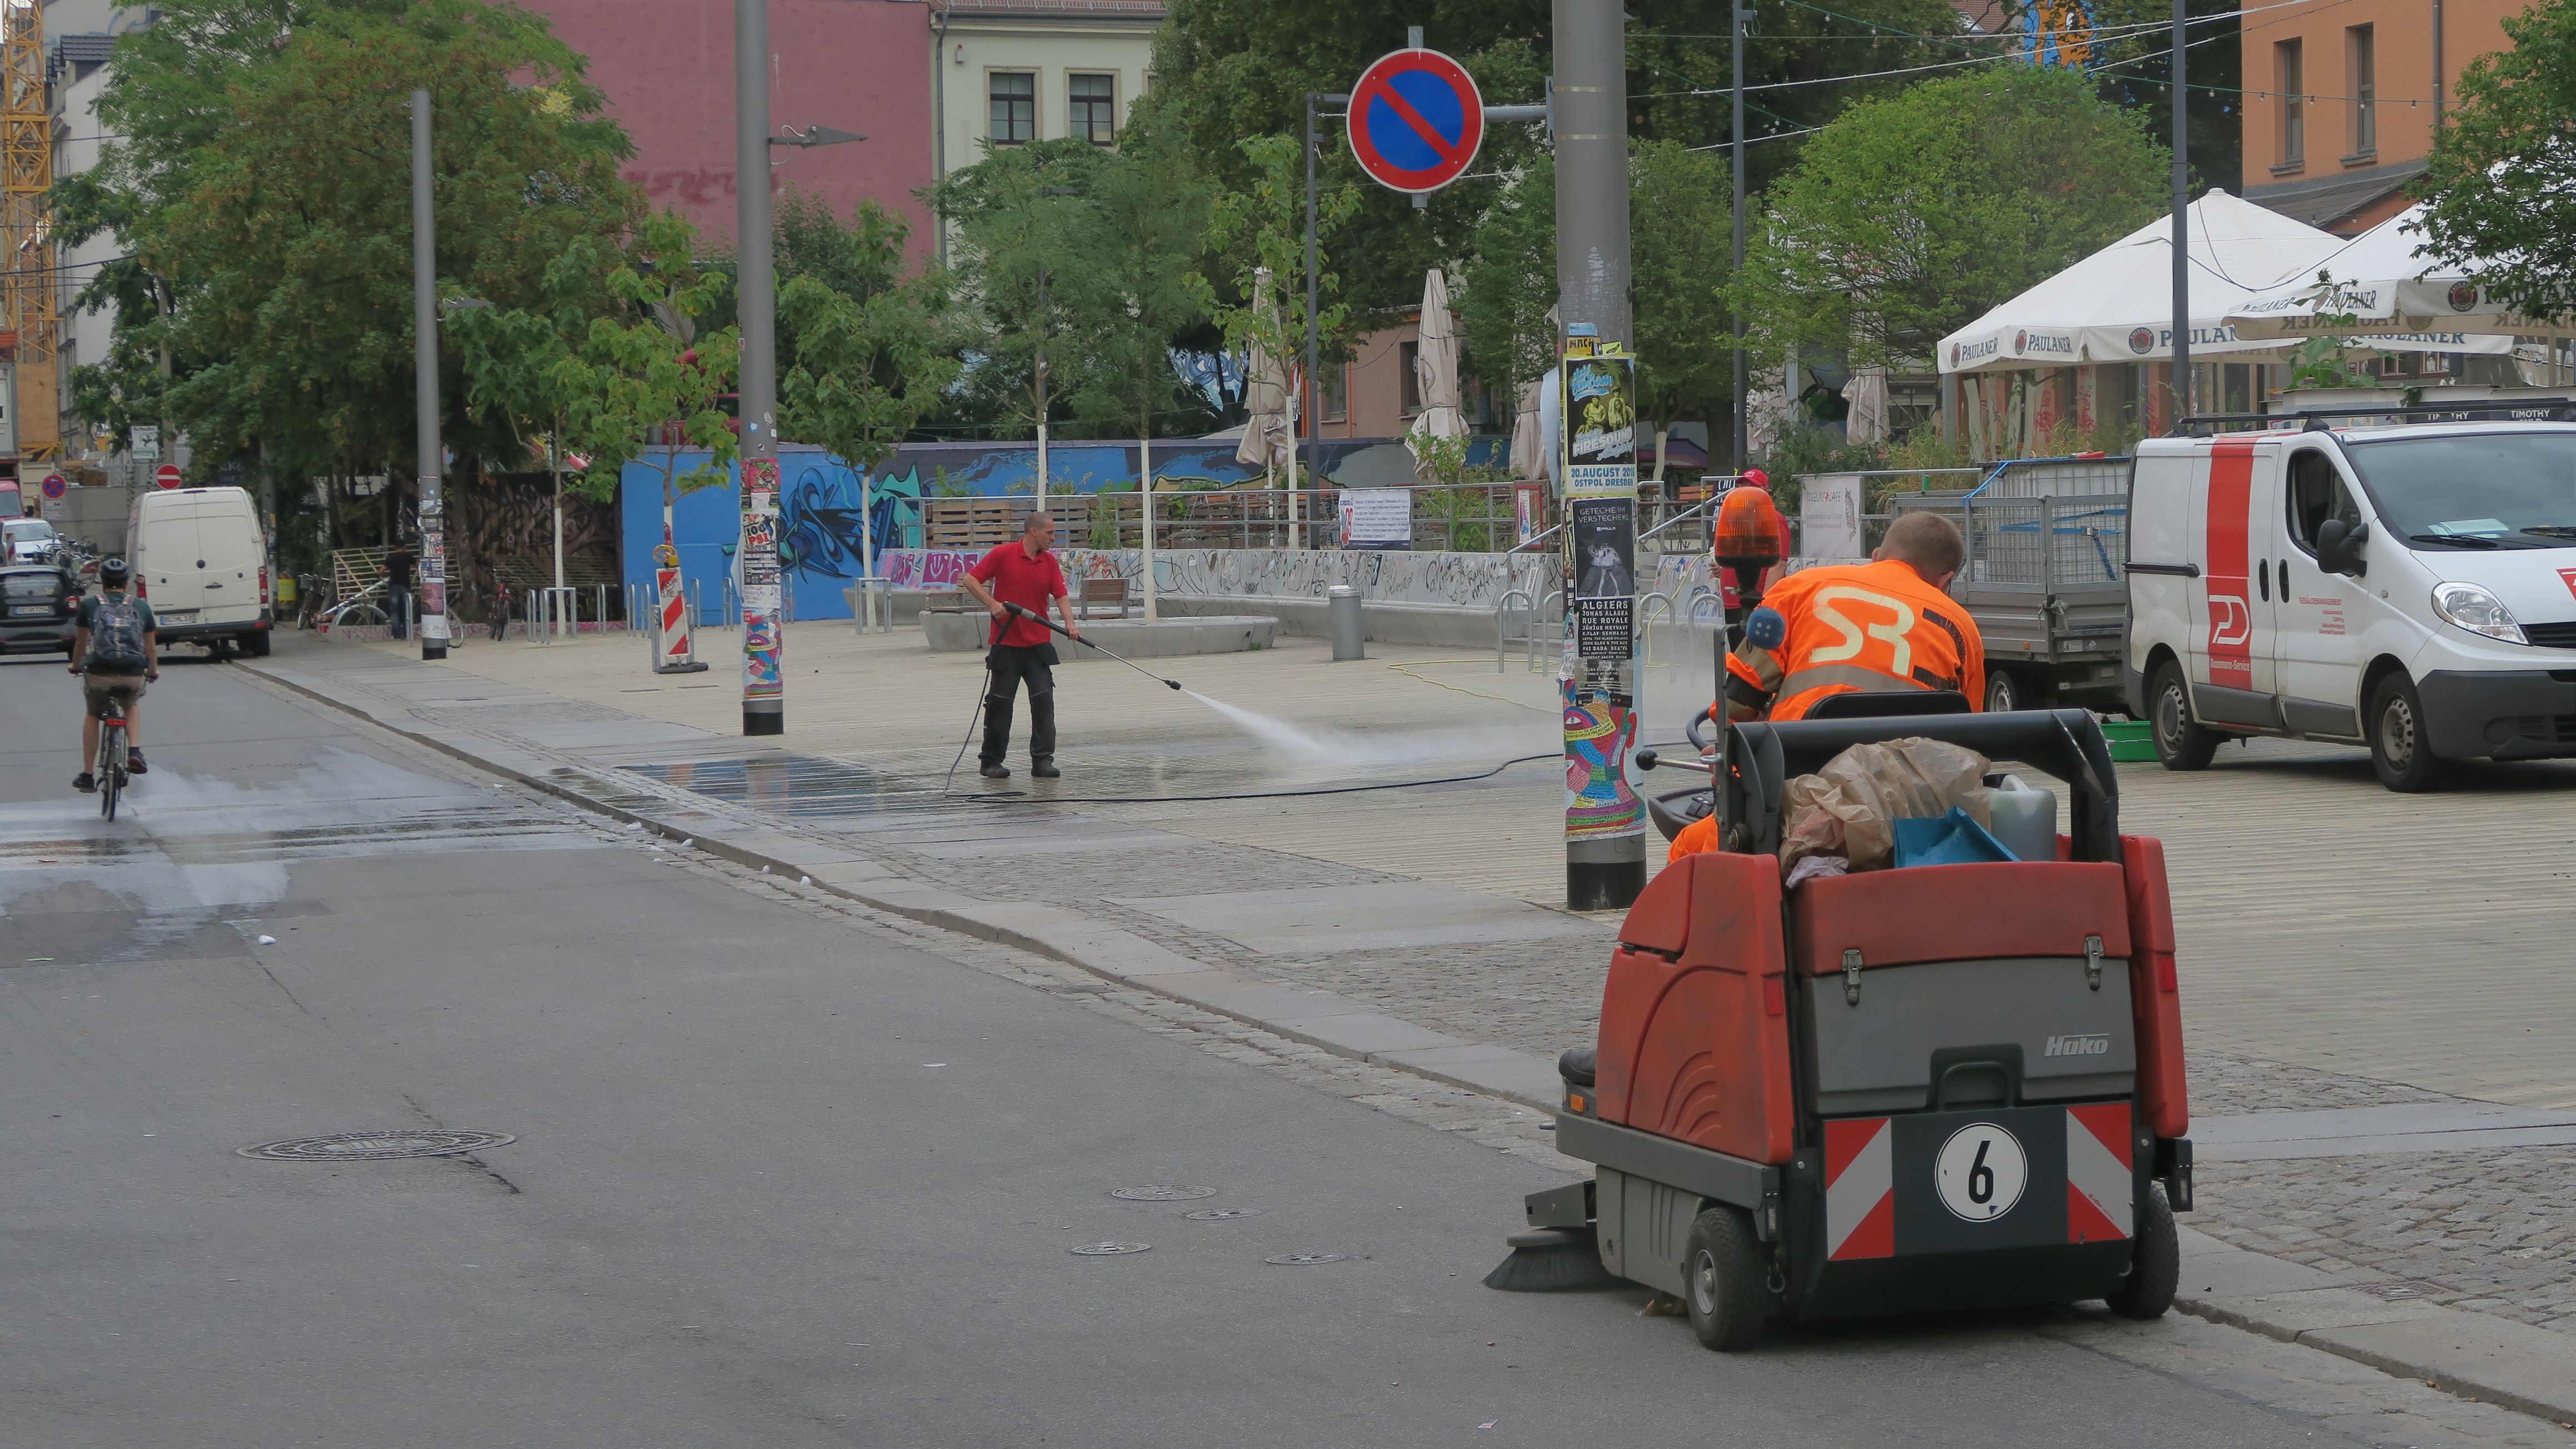
[[[2280,211],[2210,190],[2187,211],[2192,358],[2269,360],[2280,337],[2244,337],[2228,314],[2264,288],[2308,275],[2344,242]],[[2174,355],[2174,239],[2159,216],[1940,340],[1942,373],[2159,363]],[[2504,353],[2512,340],[2372,335],[2401,353]]]

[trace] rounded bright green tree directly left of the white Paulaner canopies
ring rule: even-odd
[[[2166,206],[2166,152],[2063,69],[1855,106],[1765,196],[1731,296],[1762,358],[1919,363],[1989,306]]]

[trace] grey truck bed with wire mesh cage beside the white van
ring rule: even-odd
[[[1986,638],[1989,710],[2120,710],[2133,458],[2012,458],[1968,492],[1888,499],[1947,515],[1968,540],[1950,592]]]

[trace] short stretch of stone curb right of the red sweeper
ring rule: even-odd
[[[2174,1307],[2576,1426],[2576,1336],[2553,1328],[2380,1297],[2352,1279],[2233,1248],[2192,1228],[2182,1230]]]

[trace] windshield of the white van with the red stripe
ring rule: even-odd
[[[2347,443],[2380,522],[2421,548],[2576,548],[2576,432]]]

